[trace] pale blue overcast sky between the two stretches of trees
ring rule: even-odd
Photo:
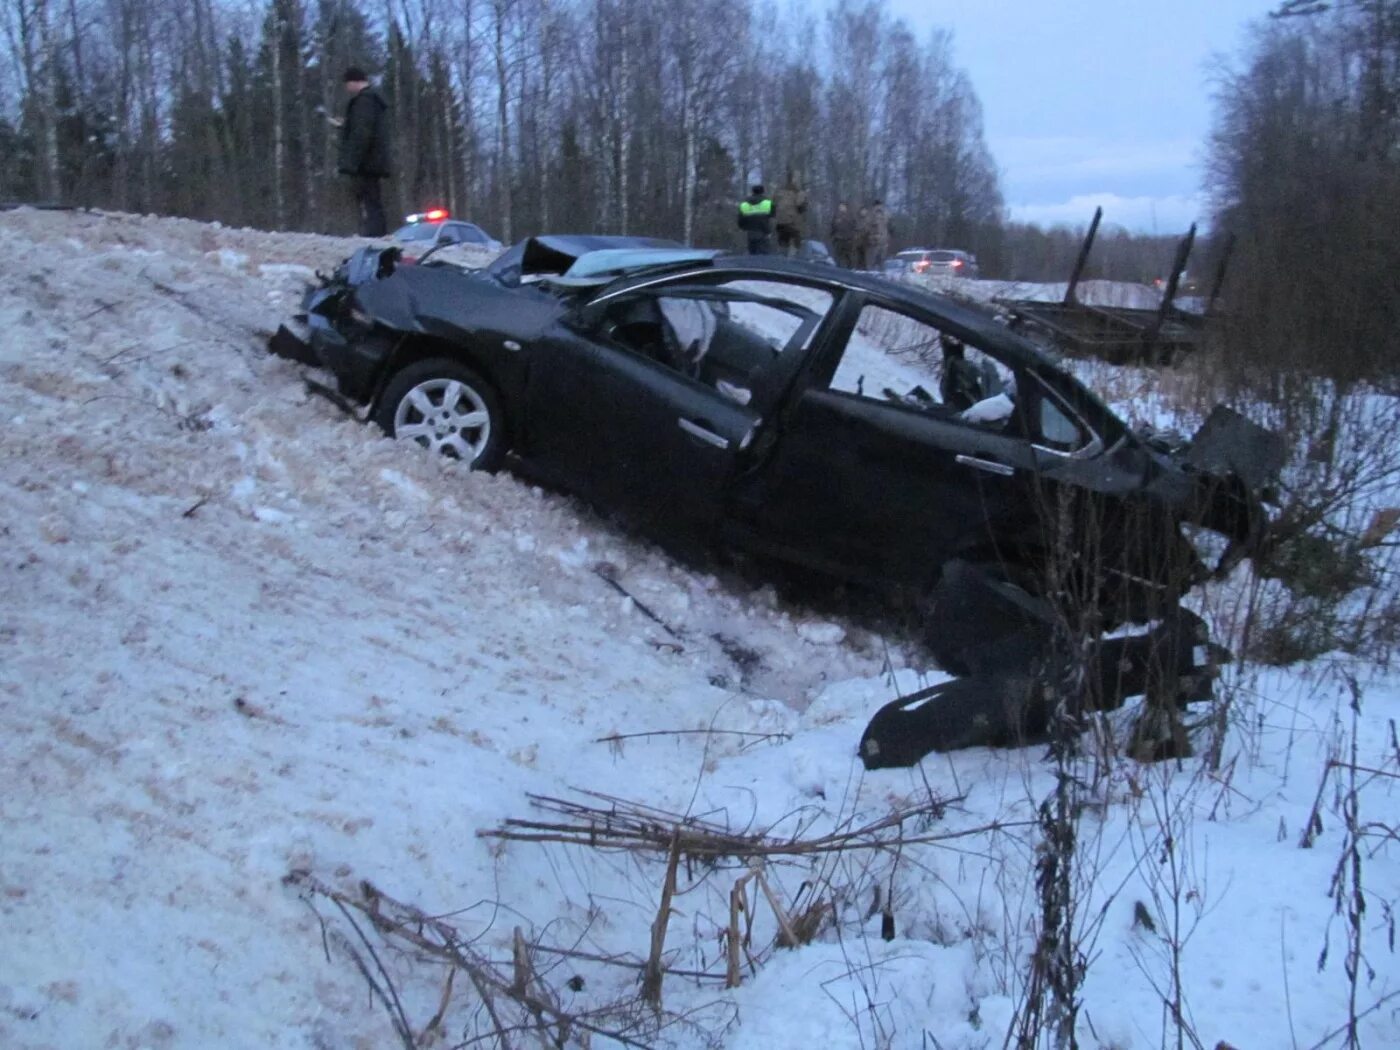
[[[1211,59],[1277,0],[889,0],[953,31],[1014,218],[1173,234],[1201,217]]]

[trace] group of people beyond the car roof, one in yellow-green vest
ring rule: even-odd
[[[739,230],[749,245],[749,255],[770,255],[777,235],[777,251],[798,255],[806,224],[806,190],[790,171],[787,182],[771,197],[763,183],[749,188],[749,196],[739,202]],[[841,200],[832,216],[832,253],[837,266],[869,270],[889,255],[889,214],[885,202],[872,200],[860,211]]]

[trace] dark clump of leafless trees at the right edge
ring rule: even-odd
[[[1219,85],[1239,235],[1228,349],[1274,375],[1400,372],[1400,0],[1287,0]]]

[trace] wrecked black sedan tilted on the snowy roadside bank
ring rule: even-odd
[[[773,256],[542,237],[463,272],[364,249],[304,309],[273,349],[388,434],[902,595],[953,673],[1030,673],[1067,610],[1155,624],[1092,675],[1107,706],[1156,679],[1198,699],[1180,601],[1257,547],[1281,459],[1225,410],[1149,441],[977,309]]]

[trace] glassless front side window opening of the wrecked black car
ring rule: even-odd
[[[830,293],[783,281],[678,283],[619,297],[601,330],[748,405],[769,365],[806,346],[832,302]]]

